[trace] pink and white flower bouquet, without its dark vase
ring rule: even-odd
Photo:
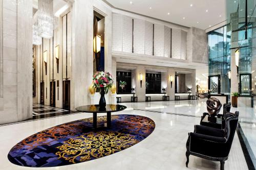
[[[93,76],[93,87],[96,89],[104,88],[106,93],[112,87],[113,82],[112,75],[107,71],[97,71]]]

